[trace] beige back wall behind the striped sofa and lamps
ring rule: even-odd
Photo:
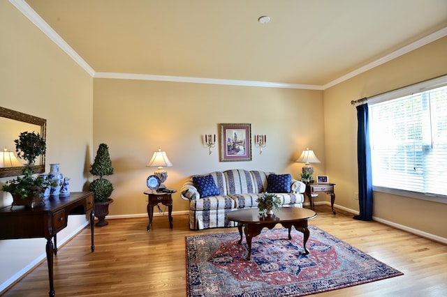
[[[94,144],[108,144],[115,190],[110,216],[146,213],[145,181],[156,168],[145,167],[159,147],[166,151],[169,188],[180,190],[191,174],[243,168],[289,172],[300,178],[295,163],[307,146],[322,163],[324,173],[322,91],[273,89],[214,84],[94,80]],[[252,135],[267,135],[263,154],[252,143],[251,162],[219,162],[203,146],[205,133],[219,137],[219,123],[251,123]],[[173,211],[189,204],[173,195]]]

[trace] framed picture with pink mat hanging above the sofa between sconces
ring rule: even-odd
[[[251,124],[221,123],[221,162],[251,161]]]

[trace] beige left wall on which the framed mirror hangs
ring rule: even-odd
[[[91,162],[93,79],[8,1],[0,1],[0,44],[0,105],[47,119],[46,172],[59,162],[71,190],[81,191]],[[0,191],[0,207],[11,201]],[[85,222],[85,216],[71,217],[58,242]],[[0,241],[0,292],[36,259],[45,259],[45,239]]]

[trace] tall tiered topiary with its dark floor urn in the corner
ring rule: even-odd
[[[105,221],[105,216],[109,213],[109,204],[113,202],[113,199],[109,198],[113,191],[112,183],[108,179],[103,178],[103,176],[113,174],[112,161],[110,160],[107,144],[99,144],[90,173],[94,176],[99,176],[99,178],[90,183],[89,190],[95,194],[94,214],[98,218],[96,226],[103,227],[108,224]]]

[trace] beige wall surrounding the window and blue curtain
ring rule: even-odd
[[[325,163],[337,204],[358,211],[357,112],[350,102],[447,73],[447,38],[324,91]],[[374,192],[374,217],[447,238],[447,204]]]

